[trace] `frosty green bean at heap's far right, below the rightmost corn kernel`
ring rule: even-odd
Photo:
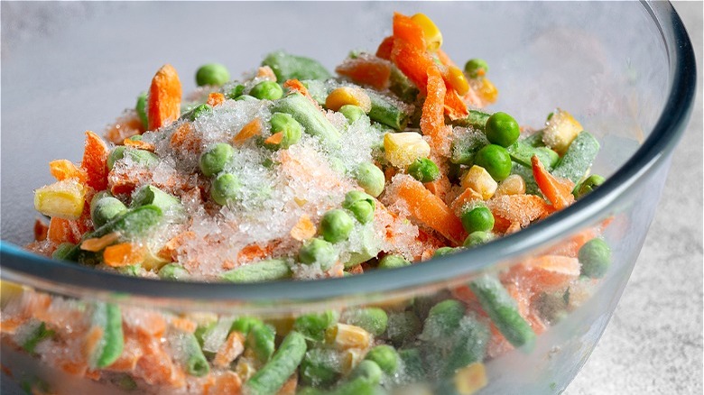
[[[578,183],[582,179],[599,152],[599,143],[591,133],[582,131],[570,143],[567,152],[552,170],[552,175],[570,179]]]

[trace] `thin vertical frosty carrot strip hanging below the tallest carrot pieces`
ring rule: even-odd
[[[431,138],[430,145],[433,153],[438,156],[446,156],[449,153],[447,142],[450,129],[445,124],[443,106],[447,88],[437,66],[431,66],[427,73],[428,93],[425,96],[421,113],[421,132]],[[443,149],[443,146],[447,147]]]

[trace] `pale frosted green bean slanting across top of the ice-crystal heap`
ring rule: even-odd
[[[320,112],[310,101],[300,93],[296,92],[282,99],[276,100],[272,106],[273,112],[286,113],[293,116],[298,121],[305,133],[320,138],[331,146],[338,147],[338,130],[330,124],[328,118]]]

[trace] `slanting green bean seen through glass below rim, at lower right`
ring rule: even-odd
[[[518,313],[516,301],[511,298],[501,282],[494,277],[483,275],[469,283],[479,304],[491,318],[499,332],[514,347],[533,347],[535,332]]]

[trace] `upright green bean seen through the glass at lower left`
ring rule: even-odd
[[[94,368],[105,368],[114,363],[122,354],[125,339],[122,333],[120,308],[110,303],[97,302],[93,308],[92,325],[102,331],[90,357]]]

